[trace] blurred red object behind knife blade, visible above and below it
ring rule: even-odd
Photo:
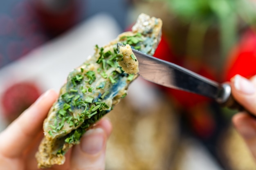
[[[202,63],[191,60],[189,57],[180,59],[176,57],[171,50],[171,44],[168,44],[164,35],[155,52],[155,57],[168,62],[173,62],[177,65],[184,66],[187,69],[194,71],[204,77],[216,80],[211,70]],[[213,134],[216,124],[209,111],[209,102],[212,100],[202,95],[197,95],[185,91],[180,91],[172,88],[160,86],[162,90],[167,92],[175,101],[174,105],[182,108],[186,112],[186,117],[190,121],[190,126],[194,132],[202,137],[209,138]]]

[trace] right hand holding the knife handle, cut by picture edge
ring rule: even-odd
[[[234,98],[256,116],[256,76],[251,79],[234,76],[231,79],[231,91]],[[234,115],[233,123],[256,160],[256,117],[240,112]]]

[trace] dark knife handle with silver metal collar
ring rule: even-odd
[[[249,113],[250,115],[252,115],[253,117],[256,118],[256,116],[252,113],[250,113],[247,109],[244,108],[244,106],[242,106],[241,104],[239,104],[236,99],[233,97],[232,93],[231,93],[231,86],[228,83],[223,83],[222,87],[224,89],[223,93],[224,96],[226,96],[227,98],[224,100],[222,100],[222,102],[219,102],[217,100],[217,102],[220,103],[220,106],[222,107],[228,107],[230,109],[234,109],[234,110],[238,110],[238,111],[246,111],[247,113]]]

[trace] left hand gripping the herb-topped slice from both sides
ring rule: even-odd
[[[43,138],[43,121],[57,98],[49,90],[25,110],[0,133],[0,170],[36,170],[35,153]],[[81,138],[81,143],[66,153],[63,165],[54,165],[51,170],[103,170],[105,168],[106,140],[112,125],[101,119]]]

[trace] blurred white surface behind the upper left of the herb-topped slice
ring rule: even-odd
[[[106,14],[86,20],[21,60],[0,69],[0,98],[11,84],[22,81],[35,82],[43,91],[49,88],[59,91],[68,73],[80,66],[89,55],[94,54],[96,44],[107,44],[115,39],[120,31],[115,20]],[[0,131],[4,127],[4,120],[0,117]]]

